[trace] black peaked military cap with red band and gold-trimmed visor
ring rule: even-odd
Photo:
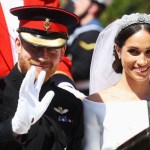
[[[20,21],[21,39],[39,47],[63,47],[68,28],[79,22],[75,14],[60,8],[59,0],[24,0],[24,6],[10,12]]]

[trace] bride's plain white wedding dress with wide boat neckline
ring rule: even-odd
[[[149,127],[147,101],[93,102],[83,100],[84,150],[115,150]]]

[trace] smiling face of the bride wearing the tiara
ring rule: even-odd
[[[150,33],[144,29],[129,37],[122,49],[117,51],[126,77],[136,81],[148,80],[150,76]]]

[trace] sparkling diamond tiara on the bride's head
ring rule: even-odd
[[[140,13],[135,13],[131,15],[124,15],[121,18],[121,24],[118,29],[118,34],[121,32],[124,28],[136,24],[136,23],[147,23],[150,24],[150,14],[140,14]],[[117,35],[118,35],[117,34]]]

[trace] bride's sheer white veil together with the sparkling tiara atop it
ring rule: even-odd
[[[108,25],[99,34],[91,61],[90,94],[99,92],[120,80],[121,74],[117,74],[112,68],[115,59],[113,56],[114,40],[122,29],[135,23],[150,24],[150,14],[124,15],[121,19]]]

